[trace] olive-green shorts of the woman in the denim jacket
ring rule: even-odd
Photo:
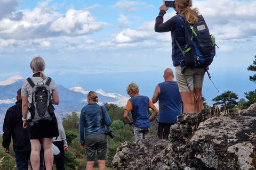
[[[89,135],[84,138],[86,160],[95,161],[97,151],[98,160],[106,160],[108,137],[106,134]]]

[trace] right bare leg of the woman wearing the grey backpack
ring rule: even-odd
[[[44,148],[44,164],[46,169],[52,169],[53,152],[52,152],[52,138],[43,138]]]

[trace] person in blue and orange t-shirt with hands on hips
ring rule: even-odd
[[[130,125],[133,125],[134,141],[136,142],[139,139],[145,139],[146,134],[149,133],[150,122],[157,115],[158,110],[147,96],[139,95],[137,84],[129,84],[126,92],[131,98],[127,101],[124,118]],[[149,108],[153,110],[150,117]],[[130,111],[133,121],[128,116]]]

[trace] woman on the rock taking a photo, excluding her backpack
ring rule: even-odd
[[[191,0],[175,0],[173,9],[177,12],[177,15],[185,16],[185,19],[190,24],[197,23],[198,9],[191,8]],[[156,32],[169,32],[172,35],[172,61],[175,66],[176,78],[179,86],[180,95],[183,101],[183,112],[184,113],[198,113],[204,108],[202,102],[202,88],[204,81],[205,69],[198,69],[196,67],[186,66],[185,58],[178,46],[180,45],[183,49],[186,45],[185,29],[184,29],[184,18],[179,18],[176,15],[171,19],[164,21],[163,17],[169,7],[164,4],[159,7],[159,14],[155,22]],[[178,43],[178,44],[177,44]],[[181,68],[182,66],[182,68]],[[183,69],[183,70],[182,70]],[[187,87],[185,77],[181,71],[184,72],[191,91]]]

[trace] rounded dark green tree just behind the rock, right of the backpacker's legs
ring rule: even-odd
[[[230,111],[233,112],[233,108],[238,104],[237,100],[238,95],[235,94],[233,91],[225,91],[221,95],[213,98],[212,100],[215,101],[213,105],[221,105],[222,111]]]

